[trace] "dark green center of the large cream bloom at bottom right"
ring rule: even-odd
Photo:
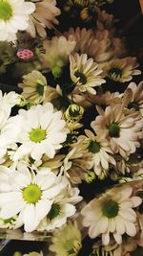
[[[117,216],[119,211],[119,205],[116,201],[110,199],[105,201],[102,205],[102,213],[107,218],[114,218]]]

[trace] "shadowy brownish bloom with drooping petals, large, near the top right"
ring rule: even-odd
[[[75,53],[87,54],[97,63],[111,58],[118,58],[122,54],[122,45],[119,38],[110,37],[107,30],[96,31],[76,28],[64,34],[69,40],[75,40]]]

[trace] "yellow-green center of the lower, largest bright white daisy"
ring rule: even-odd
[[[42,191],[36,184],[30,184],[23,189],[23,198],[28,203],[36,203],[42,196]]]

